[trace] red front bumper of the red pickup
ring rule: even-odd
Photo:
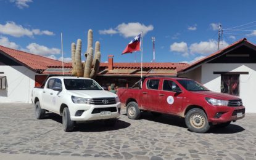
[[[212,114],[209,115],[208,121],[212,122],[213,124],[236,121],[246,116],[245,110],[246,108],[244,106],[216,106]],[[217,113],[221,113],[221,116],[219,118],[217,116]]]

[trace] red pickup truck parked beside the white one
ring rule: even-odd
[[[141,111],[172,114],[184,118],[192,132],[204,133],[210,126],[226,127],[245,116],[241,98],[212,92],[192,79],[148,77],[141,83],[142,88],[118,89],[130,119],[138,119]]]

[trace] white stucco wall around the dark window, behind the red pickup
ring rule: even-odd
[[[248,71],[249,74],[240,74],[239,97],[242,98],[247,113],[256,113],[256,64],[216,64],[202,65],[202,81],[205,87],[220,92],[221,75],[213,71]]]

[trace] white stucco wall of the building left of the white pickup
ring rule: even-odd
[[[35,72],[25,66],[0,65],[1,76],[6,76],[7,89],[0,89],[0,102],[31,103],[31,92],[35,86]]]

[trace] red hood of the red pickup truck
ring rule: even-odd
[[[221,93],[212,92],[212,91],[196,91],[196,92],[192,92],[192,93],[201,95],[202,97],[215,98],[215,99],[218,99],[218,100],[237,100],[237,99],[241,99],[241,98],[239,98],[237,96],[234,96],[234,95],[221,94]]]

